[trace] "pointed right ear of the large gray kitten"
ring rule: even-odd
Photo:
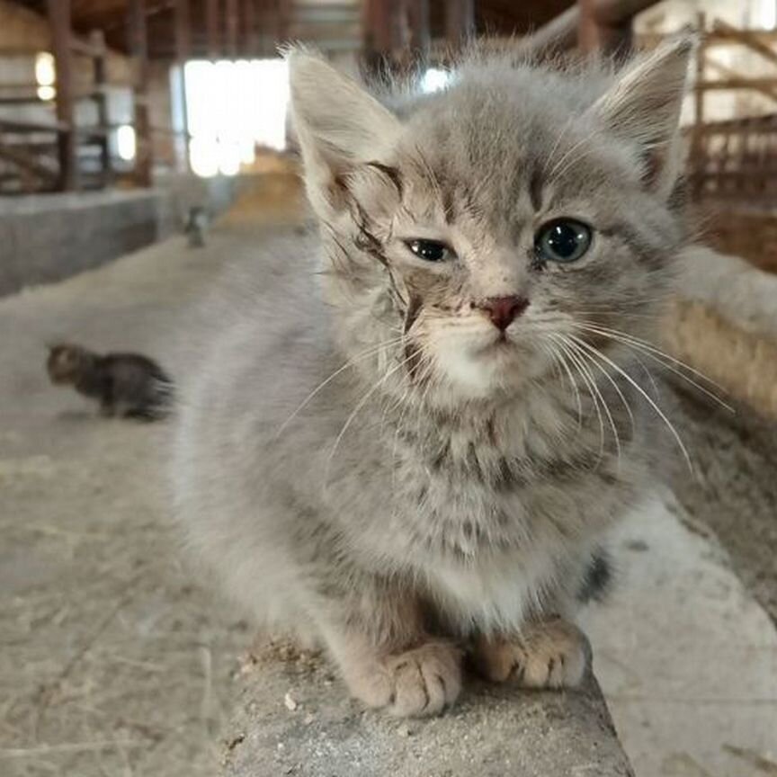
[[[680,172],[680,110],[695,46],[686,35],[637,59],[592,109],[613,134],[638,147],[646,185],[665,197]]]

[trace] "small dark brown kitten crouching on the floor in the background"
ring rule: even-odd
[[[49,346],[46,362],[55,385],[70,384],[79,394],[100,401],[103,415],[154,421],[167,415],[173,381],[147,356],[107,353],[101,356],[74,344]]]

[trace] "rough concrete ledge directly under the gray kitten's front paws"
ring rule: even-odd
[[[265,646],[224,748],[222,777],[633,777],[599,686],[465,686],[442,718],[389,719],[349,701],[331,667]]]

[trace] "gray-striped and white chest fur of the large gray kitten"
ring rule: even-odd
[[[558,608],[567,585],[574,596],[586,550],[635,490],[628,453],[600,452],[598,427],[549,397],[393,433],[396,501],[382,541],[465,631]]]

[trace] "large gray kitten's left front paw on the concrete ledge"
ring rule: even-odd
[[[460,650],[445,642],[432,642],[388,656],[351,685],[357,698],[370,707],[383,707],[391,715],[438,715],[459,696]]]

